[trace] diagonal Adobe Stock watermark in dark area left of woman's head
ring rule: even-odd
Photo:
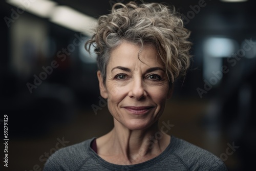
[[[60,59],[61,62],[65,61],[67,59],[67,55],[71,55],[72,52],[75,51],[75,49],[80,46],[86,37],[84,37],[81,33],[80,35],[75,34],[75,37],[73,39],[73,43],[69,44],[66,48],[62,48],[60,51],[57,52],[56,56],[58,59]],[[59,67],[59,63],[56,60],[52,60],[51,64],[47,67],[42,67],[42,72],[40,72],[38,75],[34,74],[34,80],[33,83],[27,82],[26,86],[31,93],[33,93],[33,89],[37,89],[38,86],[41,85],[42,81],[46,80],[49,75],[53,73],[53,69],[56,69]]]

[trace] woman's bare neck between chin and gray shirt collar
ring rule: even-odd
[[[118,156],[125,161],[122,164],[135,164],[161,154],[168,146],[170,136],[159,131],[158,122],[145,130],[129,130],[118,122],[110,133],[99,140],[99,147],[102,147],[99,152]]]

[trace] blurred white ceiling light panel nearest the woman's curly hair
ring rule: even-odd
[[[52,12],[51,22],[91,36],[97,19],[78,12],[68,6],[57,6]]]

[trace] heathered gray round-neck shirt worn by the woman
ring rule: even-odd
[[[172,136],[159,156],[134,165],[118,165],[100,158],[90,147],[95,138],[59,149],[47,160],[44,171],[53,170],[227,170],[214,154]]]

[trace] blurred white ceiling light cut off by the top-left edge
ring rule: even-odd
[[[31,0],[31,1],[20,1],[20,0],[7,0],[8,4],[11,4],[21,10],[25,10],[37,16],[48,18],[51,12],[57,5],[57,3],[49,0]]]

